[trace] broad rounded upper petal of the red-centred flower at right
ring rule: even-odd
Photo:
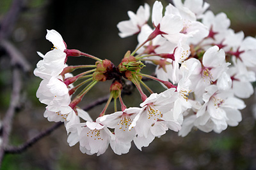
[[[218,67],[225,62],[225,52],[218,46],[209,48],[203,57],[203,64],[205,67]]]

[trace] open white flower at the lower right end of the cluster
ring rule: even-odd
[[[241,122],[241,112],[245,104],[228,91],[221,92],[216,85],[205,88],[204,105],[196,113],[195,125],[205,132],[220,133],[227,125],[236,126]],[[206,129],[205,129],[206,128]]]

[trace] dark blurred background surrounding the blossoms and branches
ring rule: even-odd
[[[215,0],[210,3],[210,10],[215,14],[221,11],[231,20],[231,28],[244,31],[246,36],[256,35],[255,0]],[[41,58],[37,51],[46,53],[52,44],[45,39],[46,29],[55,29],[68,45],[90,53],[100,59],[109,59],[118,64],[127,50],[134,50],[136,36],[122,39],[118,36],[116,24],[128,20],[127,11],[136,12],[144,3],[142,0],[27,0],[12,29],[10,41],[23,53],[34,69]],[[162,1],[168,4],[168,1]],[[10,9],[11,0],[0,0],[0,23]],[[0,49],[0,118],[8,109],[12,91],[10,59]],[[67,62],[74,64],[93,64],[85,57],[70,57]],[[147,66],[146,71],[154,70]],[[17,146],[33,138],[41,131],[51,127],[44,116],[45,105],[36,98],[40,78],[31,72],[24,76],[22,90],[22,110],[15,115],[10,144]],[[111,81],[104,83],[104,87]],[[93,87],[79,106],[101,96],[106,96],[108,87],[103,83]],[[107,84],[107,85],[106,85]],[[148,81],[153,87],[153,83]],[[156,92],[161,92],[161,85],[154,83]],[[140,97],[134,90],[131,96],[124,96],[127,106],[138,106]],[[106,153],[97,157],[80,152],[79,145],[67,144],[65,128],[56,131],[38,141],[31,148],[20,154],[8,154],[4,157],[2,169],[256,169],[256,125],[253,117],[255,96],[246,99],[247,107],[243,112],[243,121],[237,127],[228,127],[221,134],[192,131],[185,138],[176,132],[168,131],[161,138],[156,138],[142,152],[133,145],[129,153],[116,155],[109,147]],[[88,111],[96,118],[104,104]],[[108,113],[113,112],[111,108]]]

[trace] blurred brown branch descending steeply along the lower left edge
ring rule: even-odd
[[[8,145],[9,142],[9,136],[10,132],[12,131],[12,120],[15,113],[15,110],[19,106],[19,100],[20,100],[20,90],[22,87],[22,81],[21,81],[21,75],[20,70],[17,67],[13,68],[13,90],[12,90],[12,96],[10,100],[10,106],[8,110],[6,111],[6,115],[3,119],[3,125],[1,127],[1,138],[2,143],[0,147],[0,166],[1,162],[3,160],[5,147]]]

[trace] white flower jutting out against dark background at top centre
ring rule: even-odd
[[[130,20],[125,20],[117,24],[117,27],[120,31],[119,36],[121,38],[125,38],[140,32],[141,27],[147,24],[148,18],[150,16],[149,10],[149,5],[145,3],[144,7],[140,6],[136,14],[132,11],[128,11]]]

